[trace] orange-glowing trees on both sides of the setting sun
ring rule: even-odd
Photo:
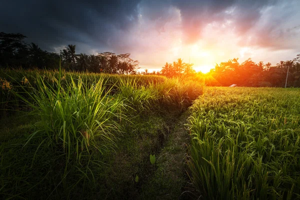
[[[173,63],[166,63],[160,71],[149,73],[145,69],[142,74],[157,74],[167,77],[198,75],[203,77],[205,84],[209,86],[237,84],[254,87],[283,87],[287,75],[287,86],[300,86],[300,54],[297,54],[293,60],[280,61],[274,66],[270,62],[255,63],[251,58],[239,63],[238,58],[233,58],[215,64],[215,67],[206,74],[195,72],[192,65],[192,63],[185,63],[178,58]]]

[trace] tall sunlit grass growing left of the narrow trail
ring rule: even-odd
[[[105,171],[111,167],[102,162],[103,157],[123,152],[123,143],[137,145],[138,150],[153,149],[163,142],[155,138],[163,137],[162,130],[168,131],[162,123],[145,131],[147,121],[134,121],[165,108],[186,109],[202,93],[203,85],[156,75],[23,69],[1,69],[0,74],[7,81],[5,85],[9,83],[1,90],[3,110],[21,110],[28,118],[34,116],[26,131],[13,133],[19,139],[11,135],[3,136],[9,141],[1,141],[0,195],[10,198],[36,198],[47,184],[51,186],[42,189],[43,197],[69,198],[76,196],[78,188],[82,193],[96,193],[97,188],[105,187],[101,178],[109,175]],[[152,135],[147,135],[149,132]],[[147,146],[138,146],[133,140],[140,137]],[[128,141],[120,144],[124,138]],[[147,151],[141,152],[146,154],[139,156],[148,158]]]

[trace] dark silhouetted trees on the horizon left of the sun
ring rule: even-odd
[[[20,33],[0,32],[0,66],[55,69],[60,62],[65,70],[114,74],[136,74],[139,68],[130,53],[76,54],[76,45],[72,44],[55,53],[42,50],[36,43],[28,44],[25,38]]]

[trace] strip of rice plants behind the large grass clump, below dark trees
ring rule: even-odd
[[[10,69],[10,68],[1,68],[0,77],[4,80],[7,80],[12,89],[16,93],[20,93],[24,98],[28,98],[26,92],[23,92],[23,89],[26,88],[27,92],[32,92],[31,90],[36,89],[38,86],[37,79],[42,77],[43,81],[47,84],[51,84],[53,88],[57,89],[57,80],[60,78],[60,86],[67,87],[71,81],[74,81],[77,84],[77,81],[80,80],[85,83],[85,86],[90,87],[97,82],[99,79],[102,79],[104,82],[105,92],[109,91],[110,94],[115,93],[118,90],[118,84],[121,83],[119,80],[124,82],[134,83],[138,87],[143,85],[147,87],[150,84],[159,84],[166,80],[164,76],[158,75],[117,75],[117,74],[106,74],[106,73],[89,73],[89,72],[68,72],[65,70],[42,70],[42,69]],[[30,84],[28,87],[18,87],[18,85]],[[22,108],[25,105],[21,104],[21,101],[18,100],[17,96],[2,95],[3,102],[9,102],[9,109],[18,109]],[[7,107],[7,106],[6,106]]]

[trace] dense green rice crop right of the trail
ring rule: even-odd
[[[202,199],[300,199],[297,89],[207,88],[191,107],[188,166]]]

